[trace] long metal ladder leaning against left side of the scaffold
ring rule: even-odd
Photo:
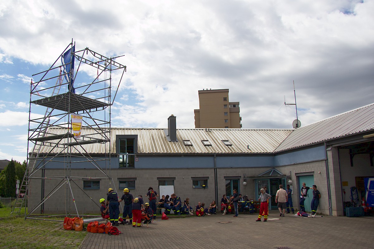
[[[62,74],[62,70],[60,69],[60,77],[57,78],[56,85],[53,88],[52,96],[55,96],[55,95],[59,94],[61,84],[62,84],[61,74]],[[32,85],[33,85],[33,80],[31,79],[31,88],[32,88]],[[31,105],[31,102],[30,102],[30,105]],[[49,113],[49,111],[50,111],[49,109],[50,108],[47,107],[45,115],[44,115],[45,118],[43,119],[43,122],[42,122],[42,124],[40,125],[40,128],[39,128],[41,132],[37,135],[37,137],[44,136],[46,131],[47,131],[47,127],[49,126],[49,121],[50,121],[49,115],[47,115],[47,113]],[[29,158],[34,158],[35,154],[36,154],[36,157],[39,157],[41,147],[42,146],[39,146],[39,148],[36,150],[35,149],[36,144],[34,144],[33,150],[31,151],[31,155],[30,155]],[[27,191],[28,191],[28,173],[29,173],[29,168],[31,168],[31,171],[34,170],[35,161],[32,164],[33,165],[30,165],[30,167],[29,167],[29,165],[26,166],[26,171],[25,171],[24,177],[22,179],[22,183],[19,186],[19,191],[18,191],[18,194],[17,194],[16,202],[15,202],[15,204],[12,208],[12,212],[10,212],[10,214],[18,214],[19,215],[21,213],[22,207],[24,207],[24,206],[26,207],[25,200],[27,199]],[[25,215],[26,215],[26,210],[25,210]]]

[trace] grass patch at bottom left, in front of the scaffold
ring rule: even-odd
[[[79,248],[87,234],[86,231],[66,231],[62,222],[21,217],[0,220],[0,229],[0,248],[12,249]]]

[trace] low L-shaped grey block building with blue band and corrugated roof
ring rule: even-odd
[[[68,169],[72,179],[90,177],[72,184],[80,213],[99,212],[95,202],[105,198],[109,187],[120,194],[127,187],[135,196],[145,196],[148,187],[153,187],[160,194],[172,191],[183,200],[189,197],[191,205],[199,201],[208,205],[212,200],[220,205],[222,195],[232,194],[233,189],[257,199],[261,187],[267,186],[272,194],[270,209],[277,209],[276,190],[279,184],[288,183],[294,208],[299,209],[301,184],[305,182],[308,187],[317,185],[321,192],[317,212],[340,216],[350,202],[352,187],[358,189],[357,205],[361,205],[365,196],[362,181],[374,176],[374,103],[295,130],[176,129],[176,117],[170,116],[167,129],[111,128],[111,139],[112,148],[83,145],[95,158],[111,151],[109,165],[105,160],[100,164],[111,181],[99,179],[102,172],[90,162],[82,161]],[[37,172],[40,176],[52,179],[67,170],[61,158],[59,162],[52,158],[45,161]],[[43,181],[30,182],[29,209],[55,191],[53,183]],[[71,202],[73,196],[65,188],[55,192],[40,212],[65,212],[64,203]],[[311,200],[309,190],[307,211]]]

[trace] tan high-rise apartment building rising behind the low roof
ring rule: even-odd
[[[242,128],[239,102],[229,102],[229,89],[200,90],[195,128]]]

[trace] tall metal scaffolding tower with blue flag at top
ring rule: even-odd
[[[32,189],[30,183],[40,186],[42,193],[40,202],[32,210],[26,212],[25,209],[25,219],[31,218],[30,215],[37,210],[43,214],[45,204],[49,205],[46,201],[59,189],[61,194],[64,187],[65,215],[75,213],[79,217],[72,185],[92,200],[77,183],[79,181],[105,179],[116,189],[110,177],[110,116],[111,106],[126,72],[126,66],[115,61],[119,57],[106,57],[88,47],[75,51],[72,41],[48,70],[33,75],[38,80],[30,84],[27,169],[12,213],[19,214],[22,207],[27,206]],[[116,87],[114,96],[112,83]],[[42,109],[44,115],[37,114]],[[76,115],[82,119],[80,133],[76,131],[79,125],[72,122]],[[88,146],[95,144],[104,144],[105,157],[89,153]],[[95,175],[73,176],[71,169],[82,164],[94,168]],[[63,169],[64,173],[46,176],[45,169],[50,165]],[[100,177],[96,176],[97,172]],[[50,191],[45,194],[47,181],[53,183],[48,185]],[[99,206],[95,201],[93,203]]]

